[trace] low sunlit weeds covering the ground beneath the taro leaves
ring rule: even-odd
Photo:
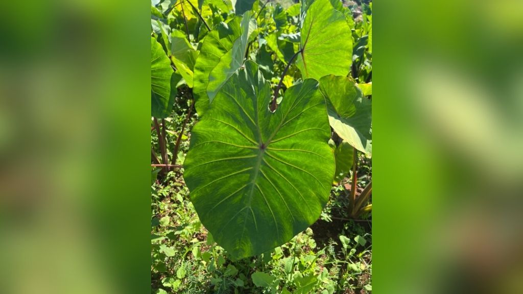
[[[171,121],[172,129],[180,121]],[[361,157],[360,163],[358,185],[363,187],[370,180],[370,160]],[[232,261],[201,225],[182,171],[158,177],[152,185],[153,293],[372,292],[371,220],[369,215],[347,219],[349,178],[332,188],[310,228],[270,252]]]

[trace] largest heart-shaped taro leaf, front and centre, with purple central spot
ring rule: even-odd
[[[215,241],[235,258],[289,241],[320,216],[334,177],[318,83],[290,87],[272,113],[269,83],[245,62],[191,132],[190,198]]]

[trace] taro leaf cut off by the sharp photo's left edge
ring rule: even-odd
[[[151,115],[154,117],[166,118],[173,110],[176,87],[171,86],[171,80],[175,80],[175,76],[169,58],[162,45],[151,37]]]

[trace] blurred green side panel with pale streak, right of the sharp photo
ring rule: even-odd
[[[373,19],[373,290],[523,293],[523,2]]]

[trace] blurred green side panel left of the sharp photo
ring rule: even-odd
[[[150,8],[0,4],[0,292],[150,290]]]

